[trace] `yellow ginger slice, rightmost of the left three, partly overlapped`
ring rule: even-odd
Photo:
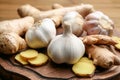
[[[48,61],[48,56],[43,53],[39,53],[36,58],[29,59],[28,62],[33,66],[41,66]]]

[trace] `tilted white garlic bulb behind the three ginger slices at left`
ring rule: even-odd
[[[26,32],[25,39],[29,47],[42,48],[47,47],[55,36],[54,22],[49,18],[45,18],[41,22],[34,24],[34,27]]]

